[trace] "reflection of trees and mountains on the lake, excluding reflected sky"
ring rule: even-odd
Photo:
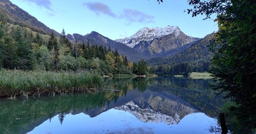
[[[0,131],[26,133],[56,115],[62,124],[66,114],[96,117],[112,108],[127,111],[142,122],[177,124],[197,112],[215,118],[224,100],[210,89],[209,82],[175,77],[106,79],[106,88],[119,91],[30,98],[26,102],[2,99]]]

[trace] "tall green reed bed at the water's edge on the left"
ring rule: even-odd
[[[96,74],[0,70],[0,97],[91,92],[102,85]]]

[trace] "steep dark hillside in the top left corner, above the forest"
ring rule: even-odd
[[[35,17],[12,4],[9,0],[0,0],[0,12],[5,13],[7,21],[10,24],[19,25],[21,27],[30,28],[34,32],[50,35],[53,31],[55,35],[60,35],[53,29],[41,23]]]

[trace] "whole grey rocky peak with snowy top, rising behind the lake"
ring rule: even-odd
[[[131,37],[117,39],[134,50],[151,57],[175,55],[190,47],[198,38],[184,34],[179,27],[143,28]]]

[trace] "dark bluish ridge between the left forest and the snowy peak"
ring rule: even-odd
[[[117,49],[119,54],[127,56],[130,60],[138,61],[143,58],[147,59],[146,57],[144,57],[144,55],[126,46],[125,44],[114,41],[94,31],[84,36],[80,34],[68,34],[67,38],[74,43],[87,44],[89,42],[92,45],[98,44],[100,46],[105,46],[106,48],[110,47],[113,51]]]

